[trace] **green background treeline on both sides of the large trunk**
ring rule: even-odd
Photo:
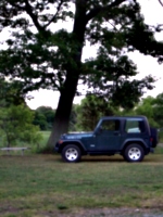
[[[0,79],[0,145],[24,143],[38,144],[42,139],[40,130],[51,131],[55,110],[40,106],[30,110],[25,99],[22,82],[9,82]],[[88,94],[80,104],[74,104],[70,118],[68,131],[93,130],[101,116],[112,115],[146,115],[151,126],[163,128],[163,93],[156,98],[148,97],[130,104],[128,98],[121,102],[108,100],[102,95]],[[66,110],[66,107],[65,107]]]

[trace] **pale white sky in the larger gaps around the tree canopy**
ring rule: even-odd
[[[147,24],[156,25],[163,24],[163,8],[158,0],[138,0],[141,5],[141,11],[145,16]],[[162,40],[163,34],[158,34],[158,40]],[[95,55],[95,47],[86,47],[83,52],[83,59],[87,59]],[[158,81],[154,84],[155,88],[153,90],[147,91],[143,97],[152,95],[156,97],[159,93],[163,92],[163,65],[156,62],[156,59],[151,56],[145,56],[138,51],[130,53],[129,58],[137,64],[139,75],[138,79],[143,78],[147,75],[154,75]],[[27,101],[30,108],[36,110],[38,106],[51,106],[55,108],[59,101],[59,92],[53,92],[51,90],[38,90],[28,93],[33,95],[34,99]],[[74,103],[79,103],[84,97],[75,97]]]

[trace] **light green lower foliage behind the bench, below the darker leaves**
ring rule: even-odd
[[[32,123],[33,112],[25,105],[10,105],[0,108],[0,132],[2,143],[12,146],[20,143],[38,143],[41,135]]]

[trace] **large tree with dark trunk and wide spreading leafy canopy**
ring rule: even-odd
[[[63,22],[72,24],[72,30],[64,29]],[[153,88],[154,79],[130,81],[137,71],[126,52],[139,50],[159,61],[163,55],[163,43],[145,24],[135,0],[1,0],[0,30],[5,27],[11,37],[5,40],[8,49],[0,51],[1,76],[21,79],[24,92],[46,88],[61,93],[51,146],[67,131],[79,79],[91,93],[129,108],[143,88]],[[87,41],[98,47],[97,58],[82,61]]]

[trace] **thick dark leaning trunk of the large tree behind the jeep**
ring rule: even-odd
[[[77,84],[80,74],[82,52],[84,47],[84,38],[86,30],[86,0],[76,0],[76,12],[74,20],[74,43],[76,43],[76,53],[73,59],[77,65],[77,68],[68,68],[66,72],[66,79],[64,87],[61,90],[61,95],[58,104],[58,108],[54,116],[53,128],[48,141],[48,148],[53,149],[60,135],[67,132],[70,116],[73,105],[73,100],[76,93]]]

